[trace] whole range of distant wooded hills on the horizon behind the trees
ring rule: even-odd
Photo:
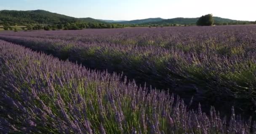
[[[215,22],[229,23],[240,22],[227,18],[213,17]],[[55,23],[118,23],[124,25],[147,25],[147,24],[195,24],[198,18],[146,18],[132,21],[114,21],[101,20],[94,18],[75,18],[58,13],[51,13],[45,10],[0,10],[0,25],[9,23],[10,25],[27,25],[27,24],[55,24]]]

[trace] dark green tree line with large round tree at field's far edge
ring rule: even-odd
[[[163,24],[118,24],[118,23],[56,23],[56,24],[28,24],[22,27],[22,30],[81,30],[84,28],[124,28],[124,27],[164,27],[164,26],[212,26],[212,25],[247,25],[256,24],[256,21],[233,21],[233,22],[214,22],[213,15],[207,14],[201,16],[196,24],[176,24],[176,23],[163,23]],[[16,26],[10,26],[4,23],[4,30],[17,31]]]

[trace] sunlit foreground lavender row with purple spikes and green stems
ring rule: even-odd
[[[230,121],[212,107],[184,101],[134,81],[0,40],[0,132],[63,134],[249,134],[232,108]]]

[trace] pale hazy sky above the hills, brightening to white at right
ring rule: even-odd
[[[256,0],[0,0],[0,10],[43,9],[77,18],[108,20],[199,17],[256,21]]]

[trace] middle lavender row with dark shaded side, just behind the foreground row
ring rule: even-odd
[[[214,53],[185,53],[176,49],[154,46],[117,44],[85,44],[62,39],[0,36],[0,39],[21,44],[33,50],[69,59],[85,67],[122,73],[137,84],[157,89],[170,89],[192,108],[202,103],[203,111],[211,106],[229,113],[231,106],[247,116],[256,109],[255,53],[250,57],[221,56]],[[223,105],[219,105],[222,103]]]

